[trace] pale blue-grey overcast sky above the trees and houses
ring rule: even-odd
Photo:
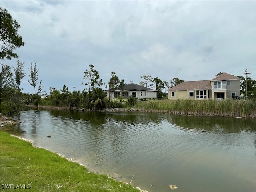
[[[218,72],[256,79],[255,1],[4,1],[20,24],[25,46],[15,50],[37,61],[49,88],[83,90],[89,65],[107,83],[111,71],[126,84],[149,74],[162,81],[210,80]],[[16,66],[17,59],[2,61]],[[103,90],[105,88],[102,86]]]

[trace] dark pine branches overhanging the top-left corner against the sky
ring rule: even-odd
[[[6,58],[10,60],[12,57],[18,58],[18,54],[13,51],[25,44],[22,41],[22,37],[17,33],[20,25],[16,20],[12,19],[12,16],[6,9],[2,8],[0,8],[0,26],[0,59]]]

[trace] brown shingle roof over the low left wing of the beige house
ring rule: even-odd
[[[201,90],[201,89],[211,89],[211,82],[210,80],[203,80],[203,81],[184,81],[170,89],[168,91],[180,91],[180,90]]]

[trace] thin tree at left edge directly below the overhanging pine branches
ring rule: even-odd
[[[14,87],[14,79],[12,78],[11,68],[8,65],[2,65],[0,73],[0,88]]]

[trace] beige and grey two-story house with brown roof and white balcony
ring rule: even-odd
[[[240,78],[223,73],[212,80],[184,81],[168,89],[168,99],[216,99],[240,97]]]

